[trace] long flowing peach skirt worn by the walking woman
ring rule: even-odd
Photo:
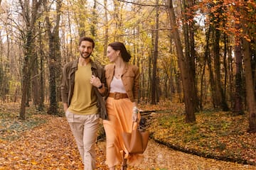
[[[103,125],[107,138],[107,166],[116,166],[124,158],[129,165],[140,164],[143,159],[142,154],[129,154],[122,140],[122,132],[132,132],[132,102],[129,98],[114,100],[109,97],[106,107],[109,120],[103,120]],[[134,123],[133,128],[137,128],[137,123]]]

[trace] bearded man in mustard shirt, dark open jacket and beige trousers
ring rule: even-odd
[[[61,82],[65,116],[86,170],[96,169],[95,142],[99,117],[107,119],[102,98],[107,92],[105,71],[90,59],[94,47],[92,38],[80,38],[80,57],[65,64]]]

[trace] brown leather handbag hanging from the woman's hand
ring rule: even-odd
[[[134,123],[132,123],[133,128]],[[139,128],[132,132],[123,132],[124,146],[130,154],[143,154],[149,141],[149,132],[141,132]]]

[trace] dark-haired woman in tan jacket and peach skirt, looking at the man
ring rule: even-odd
[[[128,164],[138,164],[141,154],[129,154],[124,147],[122,132],[132,132],[137,128],[139,114],[137,98],[139,90],[139,68],[129,64],[131,55],[122,42],[112,42],[107,47],[107,57],[112,64],[105,66],[107,81],[107,115],[103,120],[107,137],[107,166],[115,169],[122,162],[123,170]],[[132,127],[134,122],[134,127]]]

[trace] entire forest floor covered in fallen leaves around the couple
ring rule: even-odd
[[[183,121],[183,104],[161,102],[158,106],[140,105],[139,108],[150,111],[142,113],[142,117],[146,118],[146,129],[151,132],[152,140],[190,154],[151,141],[143,164],[129,169],[255,169],[256,136],[246,132],[245,115],[234,117],[230,113],[209,110],[197,113],[196,123],[187,124]],[[17,103],[7,103],[0,108],[1,170],[83,169],[65,117],[28,108],[28,120],[21,121],[17,113]],[[102,132],[99,130],[99,133]],[[104,137],[98,139],[96,149],[97,169],[107,169]],[[193,154],[230,162],[203,159]]]

